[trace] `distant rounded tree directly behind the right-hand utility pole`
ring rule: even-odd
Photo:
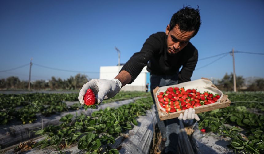
[[[218,87],[221,90],[231,91],[234,90],[234,78],[233,73],[224,75],[223,79],[218,81]],[[242,76],[236,76],[236,87],[237,90],[240,90],[244,85],[245,79]]]

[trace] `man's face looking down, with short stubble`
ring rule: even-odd
[[[174,28],[169,31],[169,25],[166,28],[167,38],[167,51],[169,54],[176,54],[181,51],[192,38],[194,31],[184,31],[181,32],[179,26],[176,25]]]

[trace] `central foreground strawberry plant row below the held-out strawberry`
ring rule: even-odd
[[[35,134],[45,139],[34,146],[52,146],[60,150],[78,142],[78,149],[87,153],[119,153],[110,145],[121,132],[132,129],[132,123],[137,125],[136,118],[145,115],[152,105],[152,98],[148,96],[116,109],[108,107],[93,112],[91,116],[68,114],[60,119],[63,122],[60,125],[38,130]]]

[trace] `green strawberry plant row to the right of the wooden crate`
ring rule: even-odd
[[[250,108],[261,109],[264,107],[262,103],[256,103],[263,102],[263,92],[227,94],[231,102],[243,102],[233,103],[227,108],[200,113],[199,129],[230,137],[231,141],[228,147],[234,149],[235,153],[263,153],[264,115],[249,111]]]

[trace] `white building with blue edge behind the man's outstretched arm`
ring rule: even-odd
[[[101,66],[100,67],[100,79],[113,79],[116,75],[118,75],[119,70],[123,66]],[[150,90],[150,77],[149,72],[147,71],[147,66],[145,66],[138,77],[131,84],[126,84],[126,86],[122,87],[122,91],[145,91],[146,84],[149,83]]]

